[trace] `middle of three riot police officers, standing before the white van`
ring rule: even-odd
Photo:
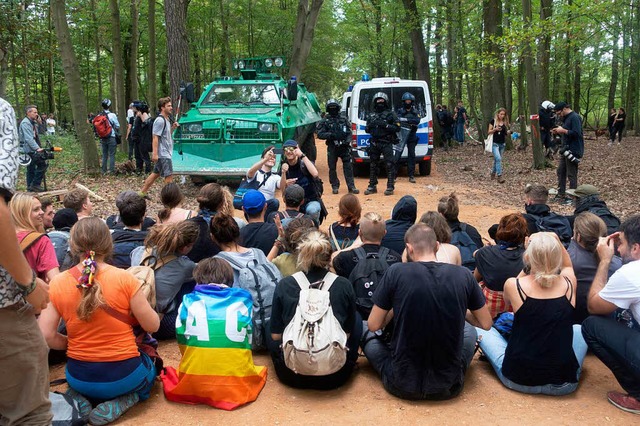
[[[387,166],[387,189],[384,191],[384,195],[393,195],[396,176],[393,144],[397,142],[400,122],[396,114],[391,110],[388,96],[383,92],[373,95],[373,112],[369,115],[365,131],[371,135],[371,139],[369,140],[369,187],[364,194],[369,195],[378,192],[380,156],[384,156]]]

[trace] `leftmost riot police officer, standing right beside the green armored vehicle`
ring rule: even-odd
[[[334,194],[338,193],[340,180],[336,172],[338,158],[342,159],[344,180],[347,182],[349,192],[359,194],[353,181],[353,164],[351,160],[351,123],[344,115],[340,114],[340,104],[335,99],[329,99],[326,105],[327,114],[318,123],[318,139],[324,139],[327,143],[327,162],[329,163],[329,182]]]

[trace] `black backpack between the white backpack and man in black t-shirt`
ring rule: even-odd
[[[389,269],[389,249],[380,247],[377,253],[367,253],[362,247],[358,247],[353,249],[353,252],[358,256],[358,263],[349,274],[349,281],[356,292],[356,309],[362,315],[362,319],[366,320],[373,308],[371,297],[382,275]]]

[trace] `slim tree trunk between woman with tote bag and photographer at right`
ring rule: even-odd
[[[522,0],[522,17],[524,27],[530,28],[532,21],[531,0]],[[538,114],[538,80],[539,72],[535,68],[534,58],[536,54],[532,51],[531,43],[527,40],[524,43],[524,68],[527,75],[527,97],[529,98],[529,114]],[[526,115],[526,114],[525,114]],[[527,117],[524,117],[527,120]],[[541,169],[545,166],[544,152],[540,142],[540,120],[531,120],[531,146],[533,146],[533,167]]]

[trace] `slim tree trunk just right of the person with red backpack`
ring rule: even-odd
[[[122,37],[120,36],[120,10],[118,9],[118,0],[109,0],[109,11],[111,12],[111,37],[112,37],[112,56],[113,56],[113,97],[115,108],[111,111],[118,116],[120,123],[120,133],[124,136],[127,128],[127,102],[124,93],[124,61],[122,56]],[[125,152],[128,150],[127,141],[123,137],[121,149]]]

